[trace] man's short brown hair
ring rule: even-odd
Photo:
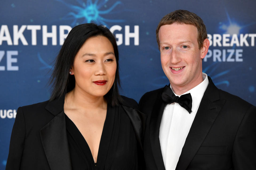
[[[156,30],[156,35],[157,35],[157,44],[159,48],[159,29],[163,25],[170,25],[173,23],[179,23],[179,24],[189,24],[189,25],[194,25],[197,27],[197,42],[199,49],[202,48],[203,46],[203,41],[207,39],[207,32],[206,32],[206,27],[205,24],[203,23],[203,20],[197,16],[193,12],[189,12],[187,10],[176,10],[173,11],[167,15],[165,15],[161,21],[159,22]]]

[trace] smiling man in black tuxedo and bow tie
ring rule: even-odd
[[[209,48],[202,19],[177,10],[161,19],[156,34],[170,85],[139,102],[147,114],[146,169],[256,169],[256,107],[202,73]]]

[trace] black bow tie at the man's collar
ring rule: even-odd
[[[190,114],[192,112],[191,111],[191,108],[192,108],[191,94],[188,93],[188,94],[185,94],[185,95],[181,95],[181,97],[175,96],[173,91],[171,90],[171,88],[169,86],[165,85],[165,87],[163,88],[163,93],[162,93],[163,101],[167,104],[171,104],[173,102],[179,103],[179,105],[181,105],[181,107],[186,109]]]

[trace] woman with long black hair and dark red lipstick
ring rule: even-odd
[[[118,47],[104,26],[67,36],[49,101],[20,107],[6,169],[143,169],[145,115],[118,93]]]

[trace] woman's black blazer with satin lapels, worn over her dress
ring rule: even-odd
[[[136,109],[136,101],[122,98],[123,110],[142,147],[146,115]],[[71,170],[63,106],[64,97],[18,108],[6,170]]]

